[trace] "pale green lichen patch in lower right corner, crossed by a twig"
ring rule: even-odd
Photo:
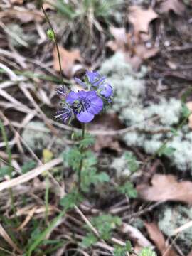
[[[186,206],[164,206],[159,210],[159,228],[160,230],[171,237],[174,235],[174,230],[188,223],[192,219],[192,207]],[[192,247],[192,227],[186,228],[178,233],[176,244],[181,245],[184,255],[187,255]]]

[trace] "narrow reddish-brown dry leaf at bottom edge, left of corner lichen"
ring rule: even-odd
[[[177,256],[176,252],[169,245],[166,245],[166,240],[164,235],[159,230],[158,225],[156,223],[144,223],[147,233],[149,234],[149,238],[154,242],[161,255],[164,256]]]

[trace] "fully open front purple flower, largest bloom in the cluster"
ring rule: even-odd
[[[73,108],[77,119],[83,123],[92,121],[103,107],[103,102],[95,91],[70,92],[66,102]]]

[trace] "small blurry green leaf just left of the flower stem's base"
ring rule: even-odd
[[[74,190],[71,193],[68,193],[60,200],[60,205],[69,210],[74,208],[75,205],[78,205],[83,200],[83,197],[78,190]]]

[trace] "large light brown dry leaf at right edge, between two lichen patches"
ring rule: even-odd
[[[139,185],[140,198],[147,201],[181,201],[192,203],[192,182],[178,182],[173,175],[155,174],[151,185]]]

